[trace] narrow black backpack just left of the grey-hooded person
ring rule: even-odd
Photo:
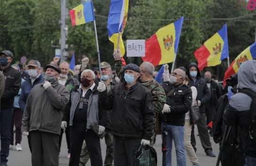
[[[224,94],[219,98],[215,106],[216,113],[213,119],[213,139],[215,143],[219,143],[222,140],[222,115],[228,104],[228,96]]]

